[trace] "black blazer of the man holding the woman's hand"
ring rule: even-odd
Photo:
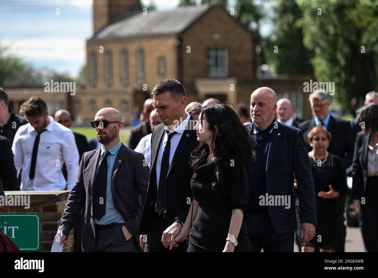
[[[185,221],[190,208],[190,202],[188,202],[187,198],[189,197],[191,200],[193,198],[191,189],[192,175],[189,161],[191,159],[191,152],[197,146],[198,141],[196,131],[194,129],[189,130],[189,126],[191,127],[190,123],[194,119],[190,117],[190,120],[178,143],[166,178],[166,208],[168,219],[172,223],[175,221],[175,217],[178,217],[181,221]],[[138,230],[141,235],[147,233],[150,214],[155,210],[157,194],[156,159],[165,134],[164,129],[164,124],[159,124],[152,131],[150,180]]]

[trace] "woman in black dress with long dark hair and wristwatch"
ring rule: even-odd
[[[194,200],[175,241],[189,236],[188,252],[251,252],[242,221],[253,139],[234,110],[221,104],[203,107],[195,130],[200,144],[191,162]]]

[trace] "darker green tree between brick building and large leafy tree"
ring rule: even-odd
[[[275,60],[277,73],[313,75],[310,59],[314,54],[305,48],[302,28],[296,23],[301,17],[302,11],[295,0],[276,0],[274,40],[268,40],[266,51]]]

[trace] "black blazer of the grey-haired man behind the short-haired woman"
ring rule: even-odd
[[[305,121],[299,124],[299,129],[303,131],[303,137],[307,146],[307,150],[311,151],[312,148],[308,143],[307,134],[316,126],[315,120]],[[350,123],[338,118],[334,118],[332,115],[327,126],[327,130],[331,132],[331,141],[328,146],[328,152],[338,156],[348,168],[353,162],[354,151],[354,136]]]

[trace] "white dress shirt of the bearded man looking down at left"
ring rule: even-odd
[[[47,131],[40,135],[35,176],[29,179],[31,158],[37,131],[30,123],[20,126],[17,130],[12,151],[17,176],[21,176],[20,190],[71,190],[75,185],[76,175],[79,171],[79,151],[71,129],[54,121],[49,116],[50,123]],[[65,163],[67,168],[67,182],[62,173]]]

